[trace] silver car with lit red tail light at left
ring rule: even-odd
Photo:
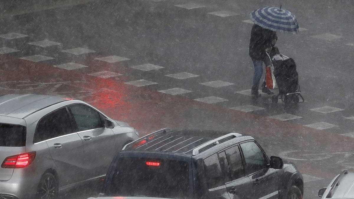
[[[53,199],[98,180],[137,138],[133,127],[80,100],[0,96],[0,199]]]

